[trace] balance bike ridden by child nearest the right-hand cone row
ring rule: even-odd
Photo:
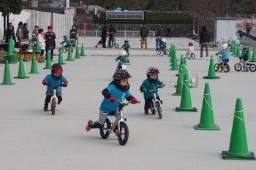
[[[157,112],[159,119],[162,119],[162,104],[161,104],[161,101],[159,101],[159,99],[157,99],[157,95],[155,93],[155,91],[158,88],[161,88],[161,86],[158,85],[156,88],[149,90],[150,92],[153,93],[153,98],[150,103],[150,110],[151,110],[152,115],[155,115]]]

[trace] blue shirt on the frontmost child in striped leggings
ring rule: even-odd
[[[121,88],[118,88],[115,84],[110,83],[105,90],[108,90],[108,96],[113,96],[118,101],[124,101],[124,99],[129,100],[132,98],[131,93],[129,93],[129,90],[122,90]],[[113,111],[118,110],[119,103],[117,101],[111,103],[108,98],[103,98],[102,103],[100,104],[99,110],[103,113],[110,113]]]

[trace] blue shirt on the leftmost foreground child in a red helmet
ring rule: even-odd
[[[59,80],[56,80],[56,79],[53,78],[53,75],[52,75],[52,74],[48,74],[48,75],[44,78],[44,80],[45,80],[46,82],[48,82],[50,85],[52,85],[52,86],[59,86],[59,85],[63,84],[64,82],[67,82],[66,77],[64,77],[64,76],[61,75],[60,79],[59,79]],[[50,95],[50,94],[53,93],[53,88],[52,88],[50,85],[48,85],[47,88],[46,88],[46,95]],[[57,94],[61,94],[61,86],[59,86],[59,88],[57,88],[56,93],[57,93]]]

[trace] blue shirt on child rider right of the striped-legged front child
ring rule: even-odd
[[[140,91],[143,91],[144,88],[146,88],[146,93],[143,93],[144,99],[148,99],[153,97],[153,93],[149,90],[152,90],[153,88],[156,88],[158,85],[162,84],[159,79],[157,80],[149,80],[148,78],[142,82],[142,85],[140,85]],[[156,96],[159,97],[158,90],[155,90]]]

